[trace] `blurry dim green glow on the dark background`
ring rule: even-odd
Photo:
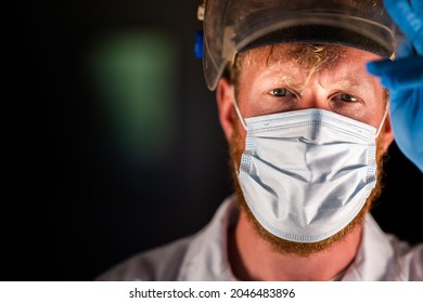
[[[161,161],[176,131],[177,54],[158,30],[114,35],[92,57],[113,140],[137,162]]]

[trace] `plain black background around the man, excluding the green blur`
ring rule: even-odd
[[[231,193],[214,93],[193,55],[201,1],[8,3],[3,36],[1,280],[91,280],[136,252],[198,230]],[[84,64],[116,28],[154,27],[179,48],[179,127],[164,166],[111,144]],[[393,144],[381,226],[423,240],[422,174]]]

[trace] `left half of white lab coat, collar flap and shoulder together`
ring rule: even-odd
[[[228,228],[236,218],[238,209],[233,198],[229,197],[217,209],[211,221],[197,233],[136,254],[112,267],[95,280],[232,279],[226,247]]]

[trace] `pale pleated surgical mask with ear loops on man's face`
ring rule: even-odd
[[[376,183],[379,130],[310,108],[242,118],[238,177],[257,221],[272,235],[316,242],[344,228]],[[383,120],[386,117],[386,111]]]

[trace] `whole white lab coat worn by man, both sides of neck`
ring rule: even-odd
[[[193,236],[142,252],[97,280],[236,280],[227,254],[228,227],[236,222],[234,197],[227,198],[211,222]],[[369,214],[363,238],[343,281],[423,280],[423,243],[410,246],[385,234]]]

